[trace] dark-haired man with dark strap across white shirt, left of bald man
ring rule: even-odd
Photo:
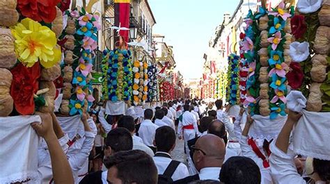
[[[175,139],[175,131],[173,131],[172,128],[168,126],[157,128],[155,135],[155,146],[157,147],[157,152],[153,159],[155,161],[155,165],[157,166],[158,174],[164,174],[165,170],[173,161],[170,154],[175,147]],[[173,181],[189,176],[186,165],[176,161],[175,166],[176,169],[174,169],[173,174],[168,176],[172,178]]]

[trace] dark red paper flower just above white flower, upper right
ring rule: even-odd
[[[292,35],[299,39],[304,36],[307,31],[307,24],[304,15],[294,15],[291,19]]]

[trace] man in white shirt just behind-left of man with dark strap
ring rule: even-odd
[[[144,111],[144,120],[141,122],[139,128],[139,137],[143,140],[143,143],[146,144],[147,147],[150,147],[152,151],[156,151],[155,146],[153,145],[153,141],[155,140],[156,129],[159,127],[156,124],[151,122],[153,117],[153,112],[151,109],[146,109]]]

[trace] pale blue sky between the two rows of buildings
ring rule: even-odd
[[[224,12],[233,14],[239,0],[148,0],[157,24],[153,33],[165,35],[173,46],[184,78],[202,76],[203,54]]]

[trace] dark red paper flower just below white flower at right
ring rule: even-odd
[[[301,87],[304,81],[304,72],[302,71],[299,62],[291,62],[290,72],[286,74],[286,78],[288,78],[288,85],[290,85],[293,90],[297,90]]]

